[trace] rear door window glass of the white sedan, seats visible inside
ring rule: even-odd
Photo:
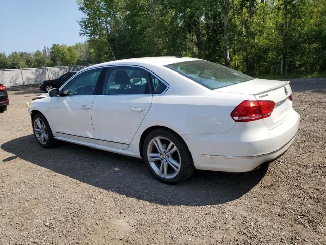
[[[107,71],[102,94],[148,94],[147,71],[136,67],[114,67]]]

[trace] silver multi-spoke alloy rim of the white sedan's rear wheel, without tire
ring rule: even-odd
[[[150,167],[160,177],[172,179],[179,174],[181,156],[171,140],[159,136],[153,138],[148,144],[147,158]]]

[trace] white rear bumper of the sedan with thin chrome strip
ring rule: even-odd
[[[237,123],[223,134],[182,135],[192,153],[195,167],[202,170],[246,172],[275,160],[294,142],[299,115],[292,110],[287,119],[273,129],[260,121]],[[254,127],[252,127],[254,126]]]

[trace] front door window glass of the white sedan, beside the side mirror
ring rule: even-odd
[[[102,68],[85,71],[64,86],[63,95],[93,95]]]

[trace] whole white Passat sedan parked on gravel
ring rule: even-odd
[[[289,82],[194,58],[117,60],[79,71],[28,103],[36,141],[143,158],[160,181],[195,169],[244,172],[281,156],[299,115]]]

